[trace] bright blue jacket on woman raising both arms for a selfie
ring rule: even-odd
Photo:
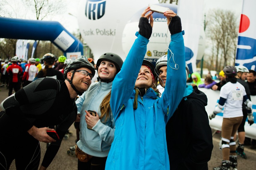
[[[134,85],[149,42],[136,33],[138,38],[113,81],[110,106],[116,130],[106,170],[169,169],[165,126],[186,88],[182,33],[184,32],[171,35],[169,49],[172,53],[168,51],[168,60],[174,57],[177,69],[172,69],[175,68],[175,63],[171,58],[167,66],[168,78],[162,97],[159,98],[156,92],[149,88],[143,100],[138,97],[138,108],[134,110]]]

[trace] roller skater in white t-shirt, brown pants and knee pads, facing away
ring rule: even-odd
[[[213,119],[216,114],[223,112],[223,122],[221,129],[221,150],[222,163],[221,166],[213,168],[213,170],[231,170],[237,167],[236,142],[234,135],[243,120],[242,104],[247,107],[248,123],[253,124],[253,116],[251,113],[252,102],[248,99],[245,87],[236,79],[236,68],[234,66],[226,66],[223,69],[227,83],[221,87],[220,100],[215,107],[214,112],[209,116]],[[225,105],[225,107],[224,107]],[[235,106],[235,107],[234,107]],[[222,111],[224,107],[224,110]]]

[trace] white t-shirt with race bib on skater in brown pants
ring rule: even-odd
[[[242,84],[227,82],[221,87],[220,97],[227,99],[224,104],[223,118],[243,116],[243,97],[246,95]]]

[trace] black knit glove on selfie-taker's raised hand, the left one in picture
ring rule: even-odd
[[[152,27],[145,17],[139,19],[139,34],[147,39],[151,37]]]

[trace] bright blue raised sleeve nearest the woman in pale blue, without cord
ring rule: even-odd
[[[147,51],[149,40],[138,32],[136,32],[136,36],[138,38],[133,43],[133,46],[123,63],[121,71],[116,75],[112,84],[110,106],[114,115],[114,120],[117,119],[120,110],[126,106],[133,94],[136,78],[138,77],[142,61]]]

